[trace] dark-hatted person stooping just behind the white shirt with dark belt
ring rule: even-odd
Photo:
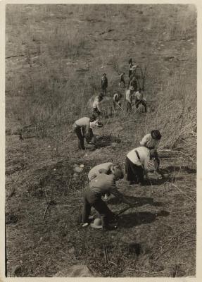
[[[153,149],[154,156],[154,168],[155,170],[160,173],[159,166],[160,160],[158,159],[157,148],[160,142],[161,135],[159,130],[152,130],[151,133],[146,134],[142,140],[140,141],[140,145],[148,148],[149,150]]]

